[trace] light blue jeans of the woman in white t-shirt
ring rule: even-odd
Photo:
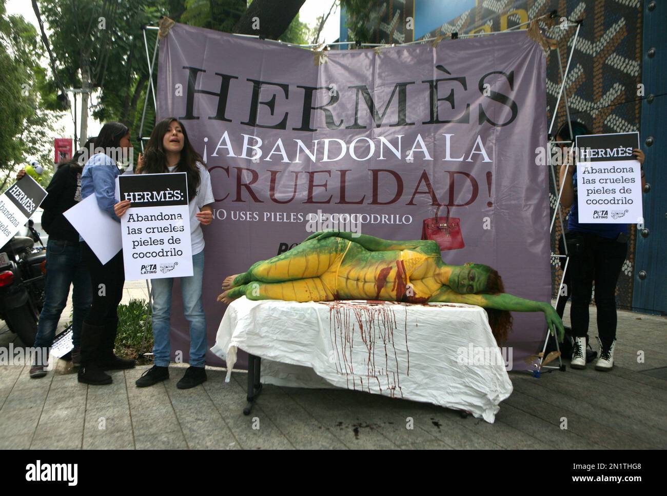
[[[206,319],[201,300],[201,285],[204,277],[204,252],[192,256],[193,275],[181,277],[181,294],[185,319],[190,323],[190,365],[203,367],[206,355]],[[151,279],[153,293],[153,354],[155,365],[168,367],[171,355],[169,342],[169,318],[171,317],[171,288],[173,277]]]

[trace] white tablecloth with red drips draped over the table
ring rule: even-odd
[[[241,297],[227,308],[211,351],[262,358],[265,383],[344,387],[472,412],[493,422],[512,393],[481,307]],[[486,358],[485,358],[486,357]]]

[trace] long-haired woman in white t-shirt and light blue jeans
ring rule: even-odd
[[[204,272],[204,237],[202,225],[213,221],[213,190],[211,177],[203,160],[193,149],[183,124],[173,117],[163,119],[153,129],[145,151],[139,155],[135,173],[155,174],[167,172],[187,173],[187,197],[190,209],[190,240],[194,275],[181,277],[181,293],[185,318],[190,323],[190,367],[176,387],[189,389],[206,380],[204,355],[207,350],[206,320],[201,300]],[[129,201],[127,202],[129,205]],[[169,318],[171,316],[171,288],[174,278],[152,279],[153,294],[153,354],[155,365],[137,379],[138,387],[151,386],[169,379]]]

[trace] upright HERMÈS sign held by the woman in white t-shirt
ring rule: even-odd
[[[189,277],[192,270],[187,174],[119,177],[125,279]]]

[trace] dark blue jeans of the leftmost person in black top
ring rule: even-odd
[[[81,243],[49,239],[46,247],[46,280],[44,307],[39,315],[35,348],[50,347],[55,337],[60,314],[67,305],[69,285],[74,285],[72,303],[72,341],[81,343],[81,325],[90,311],[93,293],[90,274],[81,259]]]

